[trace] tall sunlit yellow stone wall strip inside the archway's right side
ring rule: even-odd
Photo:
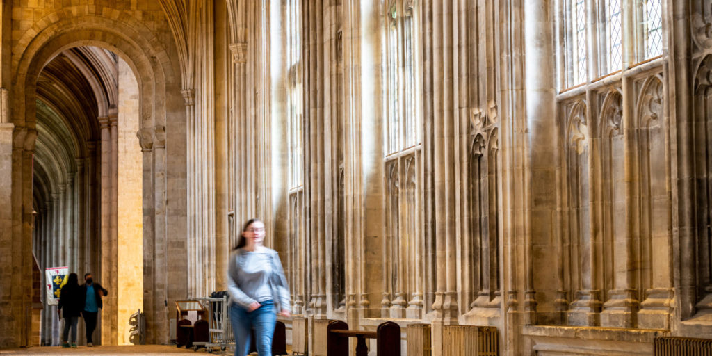
[[[129,345],[129,317],[143,309],[142,154],[138,83],[119,59],[118,310],[117,343]]]

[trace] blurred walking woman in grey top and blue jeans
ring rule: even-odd
[[[277,323],[275,310],[290,316],[289,288],[277,251],[262,246],[265,224],[248,220],[242,239],[230,256],[227,285],[230,321],[235,334],[235,356],[250,350],[250,330],[255,329],[259,356],[272,355],[272,336]]]

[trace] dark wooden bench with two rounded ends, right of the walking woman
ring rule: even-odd
[[[356,356],[368,355],[366,339],[376,339],[377,356],[400,356],[400,326],[392,321],[378,325],[376,331],[349,330],[341,320],[331,320],[327,327],[327,356],[349,354],[349,337],[356,338]]]

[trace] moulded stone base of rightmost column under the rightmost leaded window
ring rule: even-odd
[[[645,299],[640,303],[638,312],[638,328],[641,329],[670,329],[670,317],[672,315],[673,288],[652,288],[645,291]],[[708,311],[712,314],[712,294],[698,303],[698,310],[702,310],[700,305],[707,303]]]

